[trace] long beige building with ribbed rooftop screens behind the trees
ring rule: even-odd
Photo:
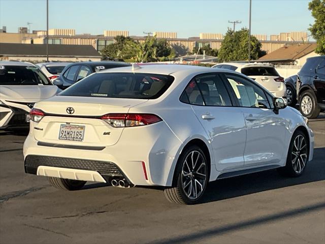
[[[199,37],[177,38],[175,32],[154,32],[157,38],[164,38],[167,42],[183,55],[191,52],[194,47],[209,45],[213,49],[220,49],[223,35],[220,33],[200,33]],[[129,36],[128,31],[104,31],[103,35],[82,34],[76,35],[75,29],[49,29],[49,44],[64,45],[91,45],[96,50],[101,51],[107,45],[114,43],[114,37],[122,35]],[[280,33],[271,35],[270,40],[267,35],[254,35],[262,43],[262,50],[267,53],[273,52],[284,45],[302,44],[307,41],[306,32]],[[131,36],[134,40],[143,42],[146,37]],[[35,34],[28,33],[0,33],[0,43],[46,43],[46,32],[39,31]],[[311,42],[309,42],[311,43]]]

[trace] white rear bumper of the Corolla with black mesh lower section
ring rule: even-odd
[[[143,128],[127,129],[115,145],[103,149],[77,149],[40,143],[34,138],[35,129],[31,127],[23,149],[25,172],[37,174],[39,166],[73,168],[96,171],[106,179],[123,177],[129,185],[171,186],[177,153],[182,146],[180,140],[164,121]],[[105,167],[117,170],[115,173],[106,172],[103,171]]]

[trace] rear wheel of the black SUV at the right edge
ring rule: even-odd
[[[320,113],[320,108],[312,90],[305,90],[301,94],[299,104],[300,112],[307,118],[316,118]]]

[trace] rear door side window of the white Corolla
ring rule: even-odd
[[[193,105],[232,106],[229,94],[217,74],[194,77],[185,88],[185,93]]]

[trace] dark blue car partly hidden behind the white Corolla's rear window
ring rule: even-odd
[[[131,65],[115,61],[72,63],[62,70],[60,76],[53,81],[53,84],[61,89],[66,89],[94,72],[125,66]]]

